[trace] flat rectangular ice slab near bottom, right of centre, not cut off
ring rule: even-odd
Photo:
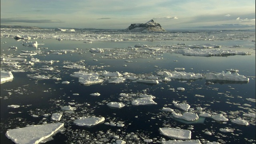
[[[183,130],[177,128],[159,128],[159,131],[164,136],[168,136],[170,138],[181,139],[181,140],[190,140],[191,131]]]

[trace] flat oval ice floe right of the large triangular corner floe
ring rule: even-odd
[[[105,118],[104,117],[80,117],[77,120],[74,120],[74,124],[78,126],[95,126],[97,124],[104,123]]]

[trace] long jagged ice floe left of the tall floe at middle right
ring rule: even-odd
[[[193,72],[177,72],[176,70],[174,70],[173,72],[167,72],[167,71],[163,71],[163,72],[158,72],[158,75],[160,76],[164,76],[167,78],[171,78],[171,79],[199,79],[199,78],[204,78],[202,76],[202,74],[195,74]]]

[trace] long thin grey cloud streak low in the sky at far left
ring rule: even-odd
[[[64,23],[61,20],[28,20],[28,18],[1,18],[1,23]]]

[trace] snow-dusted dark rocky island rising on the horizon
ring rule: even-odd
[[[154,20],[150,20],[146,22],[145,24],[131,24],[128,28],[126,28],[124,31],[131,31],[131,32],[144,32],[144,31],[150,31],[150,32],[163,32],[165,31],[162,26]]]

